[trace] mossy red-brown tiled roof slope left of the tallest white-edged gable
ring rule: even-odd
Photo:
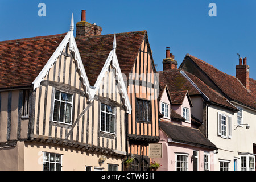
[[[31,86],[65,35],[0,42],[0,89]]]

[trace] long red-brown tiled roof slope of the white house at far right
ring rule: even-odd
[[[214,82],[225,94],[225,97],[230,100],[236,101],[240,104],[256,109],[256,97],[255,97],[255,80],[250,79],[252,85],[251,91],[247,90],[238,78],[221,72],[212,65],[206,63],[203,60],[198,59],[192,55],[187,55],[193,63],[195,63],[201,71],[207,75],[210,80]],[[253,86],[254,85],[254,86]]]

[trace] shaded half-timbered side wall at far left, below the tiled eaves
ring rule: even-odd
[[[29,116],[23,110],[30,109],[27,97],[31,92],[32,89],[0,92],[0,143],[27,138]]]

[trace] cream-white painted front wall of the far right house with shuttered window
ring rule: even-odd
[[[237,105],[238,107],[238,105]],[[218,112],[232,116],[232,138],[222,138],[218,136]],[[224,159],[230,162],[229,169],[233,171],[234,169],[234,158],[238,159],[238,170],[240,170],[240,155],[238,152],[249,152],[253,153],[253,143],[256,143],[255,133],[256,133],[256,115],[255,112],[243,107],[243,123],[248,123],[250,129],[246,129],[246,125],[237,127],[237,113],[233,113],[223,107],[218,107],[214,105],[209,106],[208,112],[208,131],[209,140],[216,144],[218,147],[218,153],[215,154],[215,170],[220,170],[219,159]]]

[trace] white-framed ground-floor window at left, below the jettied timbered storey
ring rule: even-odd
[[[61,171],[62,155],[44,152],[43,170]]]

